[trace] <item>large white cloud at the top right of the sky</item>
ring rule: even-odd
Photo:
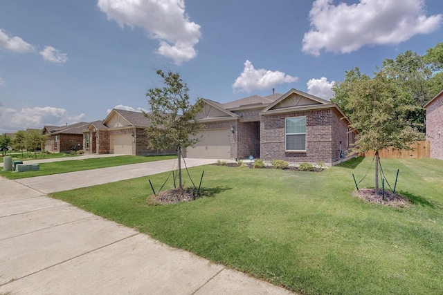
[[[312,4],[311,30],[303,37],[305,53],[318,56],[322,48],[351,53],[365,45],[398,44],[437,30],[443,20],[442,14],[426,17],[424,0],[360,0],[337,6],[332,2]]]

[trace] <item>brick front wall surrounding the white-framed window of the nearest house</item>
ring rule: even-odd
[[[284,119],[306,116],[306,151],[284,151]],[[346,139],[346,124],[332,109],[301,111],[262,116],[260,158],[288,162],[324,162],[331,165],[339,158],[338,142]],[[334,135],[333,135],[334,133]]]

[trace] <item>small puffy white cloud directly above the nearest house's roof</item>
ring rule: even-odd
[[[298,77],[291,77],[278,70],[255,69],[251,61],[244,63],[243,73],[235,79],[233,90],[235,92],[252,92],[257,90],[272,89],[278,84],[297,82]]]

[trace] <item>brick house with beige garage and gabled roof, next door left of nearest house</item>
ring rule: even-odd
[[[147,149],[146,128],[150,120],[143,113],[113,109],[103,121],[89,124],[83,131],[85,153],[157,155],[174,153]]]

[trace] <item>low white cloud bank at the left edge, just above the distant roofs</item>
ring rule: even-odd
[[[69,115],[64,108],[52,106],[21,108],[7,108],[0,104],[0,133],[15,132],[28,128],[39,129],[44,125],[62,126],[66,123],[74,124],[84,121],[86,115]]]

